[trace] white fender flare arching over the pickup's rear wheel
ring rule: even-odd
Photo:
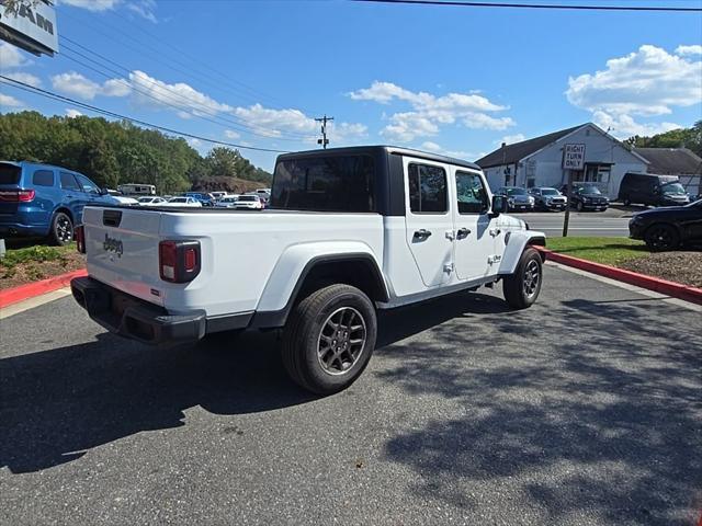
[[[360,242],[296,244],[290,247],[278,260],[263,288],[250,327],[283,327],[309,273],[315,266],[330,262],[366,264],[380,286],[382,300],[387,301],[389,298],[381,266],[369,245]]]

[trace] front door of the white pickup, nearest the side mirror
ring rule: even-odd
[[[496,220],[488,215],[488,193],[478,172],[452,169],[456,182],[455,267],[460,279],[476,279],[495,274],[499,267],[495,262],[498,229]],[[500,252],[501,253],[501,252]],[[490,263],[491,262],[491,263]]]

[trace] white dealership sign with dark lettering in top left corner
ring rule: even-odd
[[[0,0],[0,38],[34,55],[58,52],[56,12],[47,0]]]

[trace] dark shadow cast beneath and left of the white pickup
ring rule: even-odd
[[[380,345],[463,316],[466,307],[505,309],[495,298],[452,298],[439,310],[429,304],[390,313]],[[0,359],[0,468],[23,473],[70,462],[118,438],[182,426],[184,411],[196,405],[246,414],[316,400],[287,378],[276,336],[235,341],[223,333],[196,346],[156,348],[99,333],[93,342]]]

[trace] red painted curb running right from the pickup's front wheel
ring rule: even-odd
[[[625,271],[615,266],[573,258],[571,255],[561,254],[542,247],[535,248],[544,252],[548,261],[555,261],[556,263],[591,272],[592,274],[599,274],[600,276],[610,277],[618,282],[629,283],[630,285],[647,288],[648,290],[655,290],[656,293],[672,296],[673,298],[702,305],[702,288],[690,287],[688,285],[682,285],[681,283],[668,282],[667,279],[660,279],[659,277],[647,276],[645,274]]]

